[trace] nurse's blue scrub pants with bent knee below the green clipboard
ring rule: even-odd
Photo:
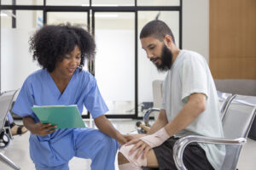
[[[67,136],[69,135],[69,136]],[[73,146],[64,143],[52,145],[52,150],[60,150],[58,153],[52,153],[57,156],[56,160],[71,159],[73,156],[91,159],[91,170],[114,170],[114,161],[119,144],[116,140],[108,137],[99,130],[91,128],[74,129],[73,133],[65,136],[67,139],[73,139]],[[68,144],[68,143],[67,143]],[[67,154],[67,150],[72,148],[72,153]],[[65,153],[66,151],[66,153]],[[55,152],[55,151],[53,151]],[[67,156],[69,155],[69,156]],[[42,163],[35,163],[37,170],[68,170],[68,161],[58,166],[48,166]],[[42,161],[41,161],[42,162]],[[84,167],[85,169],[85,167]]]

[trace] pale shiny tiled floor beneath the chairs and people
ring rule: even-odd
[[[87,125],[90,125],[89,121],[85,121]],[[135,129],[136,120],[111,120],[114,127],[118,128],[121,133],[129,133]],[[91,123],[92,127],[94,124]],[[33,170],[35,169],[30,157],[28,150],[28,138],[29,133],[25,133],[22,136],[15,136],[15,139],[11,141],[8,147],[0,150],[5,156],[14,161],[21,167],[22,170]],[[239,170],[255,170],[256,169],[256,141],[252,139],[247,140],[241,150],[240,159],[238,162]],[[90,170],[90,160],[84,160],[80,158],[73,158],[69,162],[71,170]],[[1,170],[10,170],[11,168],[3,164],[0,161]],[[118,167],[116,165],[116,170]]]

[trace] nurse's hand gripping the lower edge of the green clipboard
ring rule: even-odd
[[[55,132],[57,129],[56,125],[43,124],[42,122],[35,123],[34,126],[31,128],[31,133],[36,134],[38,136],[45,136],[49,133]]]

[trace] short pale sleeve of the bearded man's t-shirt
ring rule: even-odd
[[[201,56],[189,56],[183,61],[182,67],[182,101],[187,103],[190,94],[205,94],[207,92],[207,69]]]

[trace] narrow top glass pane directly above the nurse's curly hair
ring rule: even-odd
[[[89,6],[89,0],[72,0],[72,1],[63,1],[63,0],[46,0],[46,5],[55,5],[55,6]]]

